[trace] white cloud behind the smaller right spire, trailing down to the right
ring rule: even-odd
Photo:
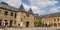
[[[24,8],[25,8],[26,11],[28,11],[29,8],[31,8],[32,11],[33,11],[35,14],[39,14],[39,15],[45,14],[45,11],[44,11],[44,10],[41,10],[41,9],[40,9],[39,7],[37,7],[37,6],[29,6],[29,5],[27,5],[27,4],[23,4],[23,6],[24,6]]]

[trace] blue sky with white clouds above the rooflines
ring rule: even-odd
[[[31,8],[35,14],[45,15],[60,12],[60,0],[0,0],[19,8],[23,4],[26,11]]]

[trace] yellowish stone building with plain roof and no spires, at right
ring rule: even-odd
[[[60,12],[43,15],[42,22],[50,27],[60,27]]]

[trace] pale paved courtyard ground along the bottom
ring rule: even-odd
[[[60,27],[54,27],[54,28],[51,28],[51,27],[37,27],[37,28],[7,28],[5,30],[57,30],[57,29],[60,29]],[[0,30],[4,30],[4,29],[1,29]]]

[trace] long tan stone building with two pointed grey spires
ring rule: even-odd
[[[25,11],[23,5],[20,8],[9,6],[7,3],[0,3],[0,27],[34,27],[34,14],[30,8]]]

